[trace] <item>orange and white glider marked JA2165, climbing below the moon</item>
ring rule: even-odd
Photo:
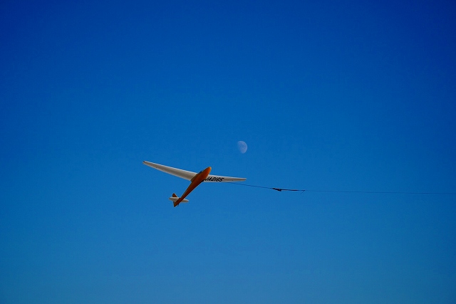
[[[187,195],[190,194],[190,192],[192,192],[193,189],[198,187],[202,182],[242,182],[246,180],[242,177],[222,177],[220,175],[211,175],[209,174],[212,170],[211,167],[207,167],[206,169],[195,173],[173,167],[167,167],[162,164],[155,164],[153,162],[144,161],[142,164],[145,164],[146,166],[160,170],[167,174],[172,174],[176,177],[180,177],[181,179],[187,179],[190,181],[189,187],[187,187],[182,196],[179,197],[173,193],[170,197],[170,200],[174,202],[174,206],[179,206],[180,203],[187,203],[188,199],[185,199],[185,197],[187,197]]]

